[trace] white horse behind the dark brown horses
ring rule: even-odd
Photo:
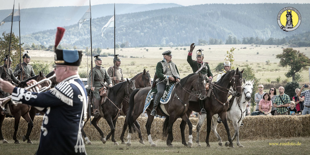
[[[253,92],[253,84],[254,84],[254,80],[250,82],[250,81],[246,81],[245,79],[243,79],[243,85],[242,85],[243,93],[240,97],[235,98],[231,109],[227,112],[227,120],[232,121],[232,125],[235,129],[235,135],[232,137],[232,141],[235,138],[237,138],[237,145],[239,147],[243,147],[243,145],[241,145],[239,142],[239,128],[240,128],[240,124],[242,120],[246,116],[246,113],[245,113],[246,104],[247,104],[247,101],[251,100],[251,95]],[[212,117],[213,124],[211,125],[211,129],[219,141],[219,146],[223,146],[222,139],[216,131],[216,127],[219,124],[217,122],[217,119],[218,119],[218,114],[213,115]],[[205,122],[205,120],[206,120],[206,115],[200,115],[200,116],[198,115],[197,126],[201,126],[201,127],[197,127],[193,125],[193,131],[196,131],[197,128],[198,129],[200,128],[201,130],[202,125]],[[201,146],[201,144],[199,143],[199,131],[197,131],[197,134],[196,134],[196,143],[198,146]],[[229,142],[227,141],[225,143],[225,146],[228,146],[228,145],[229,145]]]

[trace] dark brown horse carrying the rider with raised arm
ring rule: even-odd
[[[229,106],[228,94],[230,93],[229,88],[232,86],[233,90],[235,90],[235,92],[233,93],[235,93],[237,97],[241,95],[242,73],[243,70],[240,72],[239,69],[237,68],[236,71],[232,70],[225,73],[218,82],[213,83],[209,81],[210,83],[209,91],[211,91],[212,96],[210,96],[209,99],[206,99],[204,103],[205,109],[207,111],[206,144],[208,147],[210,147],[209,135],[211,131],[211,119],[214,114],[218,113],[219,116],[222,118],[223,124],[226,129],[228,141],[230,142],[229,146],[234,148],[227,123],[227,109]],[[200,111],[199,106],[197,106],[197,103],[198,101],[197,102],[189,101],[189,110],[187,111],[188,116],[190,115],[190,113],[192,113],[192,111]],[[196,143],[198,146],[201,146],[201,144],[199,143],[199,131],[202,123],[203,123],[202,120],[200,120],[199,123],[197,124]],[[180,124],[182,143],[186,143],[184,136],[185,125],[186,122],[182,120]]]

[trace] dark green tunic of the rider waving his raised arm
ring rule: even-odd
[[[200,70],[200,73],[203,75],[207,75],[208,77],[212,77],[213,74],[211,73],[209,64],[207,62],[198,63],[197,61],[192,59],[192,53],[188,53],[187,62],[192,67],[193,73],[197,72],[198,69],[201,68],[201,65],[204,63],[204,67]]]

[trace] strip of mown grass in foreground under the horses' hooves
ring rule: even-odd
[[[213,133],[211,133],[213,134]],[[224,140],[224,139],[223,139]],[[14,144],[14,141],[9,140],[9,144],[0,144],[1,154],[34,154],[38,148],[38,141],[33,141],[34,144],[26,144],[21,142],[20,145]],[[56,143],[56,142],[55,142]],[[131,147],[127,147],[124,144],[113,145],[111,141],[106,144],[102,144],[101,141],[93,141],[93,145],[86,145],[86,152],[88,154],[309,154],[309,137],[298,137],[290,139],[264,139],[264,140],[246,140],[241,139],[240,143],[245,148],[237,147],[236,142],[234,145],[236,148],[220,147],[217,142],[211,142],[211,147],[206,147],[206,143],[201,142],[201,147],[196,147],[193,144],[192,148],[184,147],[181,142],[174,141],[174,147],[167,147],[165,141],[155,141],[157,147],[151,147],[147,141],[145,145],[140,144],[138,141],[132,141]],[[269,143],[295,143],[300,145],[288,145],[288,146],[270,146]],[[285,144],[282,144],[285,145]],[[56,149],[56,148],[55,148]]]

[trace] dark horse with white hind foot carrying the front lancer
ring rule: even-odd
[[[101,114],[97,118],[94,117],[91,120],[91,124],[93,126],[95,126],[95,128],[99,132],[100,140],[102,141],[103,144],[105,144],[107,142],[107,139],[109,139],[110,136],[112,135],[112,137],[111,137],[112,142],[114,142],[114,145],[118,145],[118,143],[114,139],[114,131],[115,131],[116,121],[117,121],[117,118],[118,118],[120,111],[122,110],[122,102],[123,102],[125,96],[126,95],[129,96],[131,94],[131,92],[134,90],[135,90],[135,83],[133,81],[127,79],[126,81],[117,83],[116,85],[109,88],[108,95],[106,96],[106,98],[108,100],[106,100],[104,102],[103,97],[101,98],[101,103],[103,103],[103,102],[104,103],[100,105],[100,107],[102,108],[102,110],[100,110],[100,112],[102,112],[104,119],[108,122],[108,125],[111,128],[111,131],[106,137],[104,137],[104,133],[102,132],[100,127],[97,125],[100,118],[102,118]],[[90,106],[91,106],[91,104],[88,104],[87,109],[89,109]],[[89,110],[87,110],[87,114],[88,115],[87,115],[85,122],[88,121],[88,119],[90,118],[90,115],[93,116],[93,113],[90,113]],[[85,126],[85,124],[84,124],[84,126]],[[91,144],[91,142],[88,139],[87,135],[85,134],[83,128],[82,128],[82,135],[84,136],[86,143]]]

